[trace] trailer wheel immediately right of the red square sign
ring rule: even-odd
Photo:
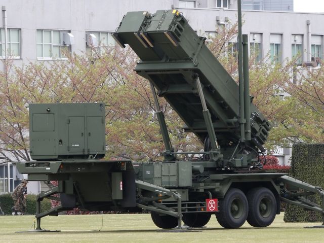
[[[248,210],[248,200],[245,194],[237,188],[232,188],[219,202],[219,212],[216,213],[216,219],[224,228],[239,228],[245,223]]]

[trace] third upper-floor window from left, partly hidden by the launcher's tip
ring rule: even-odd
[[[116,42],[112,38],[111,33],[91,31],[86,33],[86,53],[88,55],[91,55],[93,52],[97,52],[97,55],[101,55],[109,46],[116,46]]]

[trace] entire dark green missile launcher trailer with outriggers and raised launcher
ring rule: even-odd
[[[35,161],[17,163],[17,168],[31,181],[59,181],[37,197],[37,230],[42,230],[42,217],[74,207],[145,209],[163,229],[180,229],[182,221],[202,227],[212,215],[225,228],[246,221],[266,227],[280,213],[281,200],[324,213],[321,188],[262,170],[270,124],[252,103],[247,65],[240,67],[237,85],[177,10],[129,12],[114,38],[136,52],[135,72],[151,85],[164,161],[103,160],[103,103],[31,104],[30,154]],[[248,63],[247,36],[238,43],[239,61]],[[177,158],[188,153],[174,151],[157,95],[179,114],[184,130],[204,144],[204,151],[189,153],[197,159]],[[312,194],[321,196],[321,205],[306,198]],[[41,212],[45,197],[61,205]]]

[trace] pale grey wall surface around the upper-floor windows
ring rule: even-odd
[[[121,18],[128,11],[147,10],[154,13],[159,9],[171,9],[178,7],[178,0],[2,0],[1,5],[7,9],[8,28],[21,29],[21,59],[15,64],[28,63],[36,60],[36,29],[69,30],[74,36],[75,44],[71,51],[77,54],[85,52],[86,31],[113,32],[119,25]],[[235,0],[229,1],[229,9],[215,8],[213,0],[197,1],[200,6],[212,8],[179,9],[189,20],[194,30],[215,31],[216,17],[221,21],[228,17],[231,22],[236,21]],[[289,1],[288,1],[289,2]],[[232,4],[231,4],[232,3]],[[311,34],[324,35],[324,29],[320,22],[324,20],[323,14],[318,13],[294,13],[275,11],[242,11],[243,33],[262,33],[262,56],[270,49],[270,34],[282,34],[282,60],[291,58],[292,34],[303,35],[303,49],[308,49],[307,20],[310,21]],[[3,26],[3,18],[0,18],[0,26]],[[308,51],[308,50],[307,50]],[[303,60],[308,61],[309,55],[304,54]],[[3,66],[2,64],[0,65]]]

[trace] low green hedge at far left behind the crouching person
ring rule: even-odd
[[[28,194],[26,197],[27,210],[25,214],[36,214],[36,195]],[[11,208],[14,206],[14,200],[11,198],[11,193],[0,195],[0,206],[6,215],[11,215]],[[51,209],[51,201],[45,198],[41,203],[41,212]]]

